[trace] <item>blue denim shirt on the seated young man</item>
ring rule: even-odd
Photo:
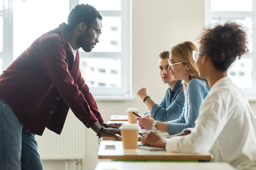
[[[151,108],[151,116],[160,122],[176,120],[180,117],[184,107],[185,96],[181,80],[178,80],[173,89],[168,88],[166,95],[159,105]]]

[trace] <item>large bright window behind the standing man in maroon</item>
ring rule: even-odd
[[[41,34],[67,23],[69,11],[77,4],[88,3],[103,17],[102,35],[92,52],[79,49],[82,77],[94,96],[131,96],[130,1],[0,0],[0,72]]]

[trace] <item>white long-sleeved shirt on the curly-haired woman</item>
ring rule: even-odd
[[[169,152],[213,154],[238,170],[256,170],[256,118],[244,93],[229,77],[219,79],[201,105],[187,136],[168,140]]]

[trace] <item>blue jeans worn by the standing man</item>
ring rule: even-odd
[[[0,99],[0,170],[43,170],[35,134]]]

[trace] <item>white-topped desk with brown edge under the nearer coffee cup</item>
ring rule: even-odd
[[[138,142],[141,144],[141,142]],[[106,145],[109,149],[106,149]],[[149,151],[149,150],[124,150],[123,143],[120,141],[102,141],[98,152],[99,159],[117,159],[117,160],[211,160],[210,153],[172,153],[167,151]]]

